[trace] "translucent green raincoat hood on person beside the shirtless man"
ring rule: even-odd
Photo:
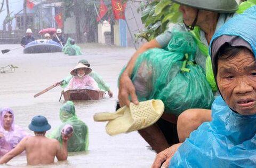
[[[67,101],[60,108],[60,120],[62,121],[62,123],[64,123],[70,119],[77,119],[76,109],[72,101]]]

